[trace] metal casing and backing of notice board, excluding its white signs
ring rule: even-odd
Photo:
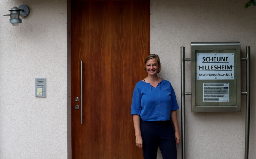
[[[208,79],[198,80],[196,78],[197,52],[212,54],[234,53],[234,78],[231,79]],[[193,112],[230,112],[241,110],[241,66],[240,66],[240,42],[191,42],[191,87]],[[202,85],[200,85],[200,84]],[[230,91],[228,102],[203,102],[203,83],[229,83]],[[202,93],[202,95],[201,95]]]

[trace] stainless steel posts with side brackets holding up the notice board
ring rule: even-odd
[[[182,159],[186,159],[186,131],[185,131],[185,95],[192,95],[191,92],[185,92],[185,61],[191,61],[191,58],[185,58],[185,47],[181,47],[181,138],[182,138]],[[245,159],[249,158],[249,132],[250,132],[250,47],[246,47],[246,126],[245,126]]]

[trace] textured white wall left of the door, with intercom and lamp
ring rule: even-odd
[[[30,14],[14,27],[3,15],[22,4]],[[0,21],[0,158],[68,158],[67,0],[1,0]],[[35,97],[36,77],[46,97]]]

